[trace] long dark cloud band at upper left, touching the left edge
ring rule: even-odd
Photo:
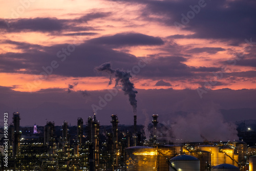
[[[92,27],[79,26],[81,22],[87,23],[89,20],[102,18],[111,15],[111,12],[94,12],[88,13],[76,19],[58,19],[58,18],[18,18],[18,19],[1,19],[0,30],[7,32],[48,32],[58,34],[61,31],[87,31],[94,30]],[[84,33],[92,35],[93,33]],[[72,35],[72,33],[67,33]]]

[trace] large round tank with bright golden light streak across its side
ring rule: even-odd
[[[125,148],[127,171],[149,171],[157,167],[157,150],[148,146]]]

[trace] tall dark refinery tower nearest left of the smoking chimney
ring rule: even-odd
[[[118,117],[117,115],[111,115],[111,123],[112,123],[112,134],[113,134],[113,164],[114,167],[118,166],[118,156],[119,156],[119,150],[118,150]]]

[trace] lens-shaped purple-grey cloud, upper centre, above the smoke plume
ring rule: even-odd
[[[113,36],[103,36],[88,40],[92,44],[120,46],[139,46],[139,45],[163,45],[160,37],[148,36],[140,33],[119,33]]]

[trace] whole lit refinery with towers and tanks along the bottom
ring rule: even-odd
[[[20,114],[14,112],[8,145],[4,137],[0,141],[0,170],[256,170],[254,131],[240,132],[244,140],[171,142],[159,138],[158,117],[152,115],[146,139],[136,115],[130,126],[118,125],[117,115],[110,116],[111,126],[100,126],[93,114],[86,121],[77,118],[76,126],[47,121],[21,127]]]

